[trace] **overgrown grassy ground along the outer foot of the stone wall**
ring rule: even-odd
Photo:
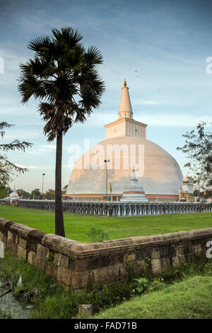
[[[17,287],[20,275],[23,284]],[[158,276],[146,273],[144,277],[147,283],[143,290],[129,278],[76,293],[7,251],[0,259],[0,281],[13,281],[13,293],[20,303],[33,305],[33,318],[77,317],[80,304],[92,304],[98,317],[108,318],[211,316],[212,261],[205,256],[196,257],[193,264],[181,264]],[[102,312],[105,310],[108,312]]]

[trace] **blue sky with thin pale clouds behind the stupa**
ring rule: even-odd
[[[95,45],[104,62],[98,70],[106,91],[100,108],[86,123],[73,125],[64,137],[62,186],[71,175],[71,145],[105,138],[107,123],[117,120],[121,88],[126,78],[134,119],[148,124],[147,139],[169,152],[182,169],[186,156],[182,134],[201,120],[211,122],[212,2],[210,0],[1,0],[0,74],[1,121],[14,124],[2,142],[33,143],[25,152],[8,152],[11,162],[28,173],[10,186],[32,191],[54,188],[55,142],[47,142],[37,101],[20,103],[20,63],[33,57],[28,43],[51,35],[53,28],[70,26],[83,35],[83,45]],[[2,143],[1,142],[1,143]]]

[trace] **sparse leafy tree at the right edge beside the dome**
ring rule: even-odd
[[[189,162],[184,166],[194,172],[196,183],[201,184],[204,196],[208,198],[212,196],[212,132],[206,125],[199,123],[196,129],[182,135],[186,138],[185,145],[177,149],[187,154]]]

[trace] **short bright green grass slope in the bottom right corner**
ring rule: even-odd
[[[212,276],[194,276],[100,312],[94,318],[209,319]]]

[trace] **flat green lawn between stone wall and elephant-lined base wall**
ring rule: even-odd
[[[54,233],[54,212],[0,205],[0,217],[29,225],[42,232]],[[110,239],[160,235],[167,232],[212,227],[212,213],[173,214],[106,218],[93,215],[64,213],[66,237],[78,242],[90,242],[86,232],[90,227],[102,227]]]

